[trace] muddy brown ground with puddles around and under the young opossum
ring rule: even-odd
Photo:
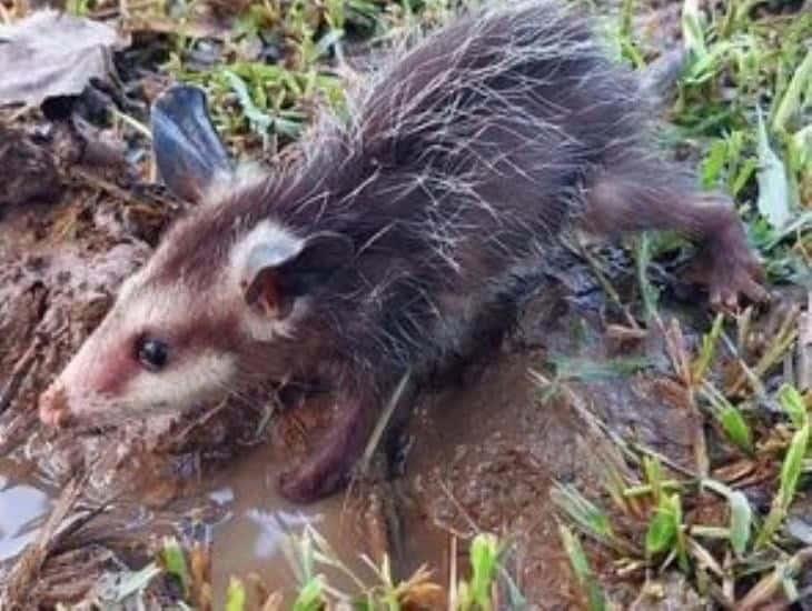
[[[46,431],[36,415],[38,394],[185,204],[150,180],[143,156],[95,163],[87,142],[102,140],[98,133],[38,114],[0,129],[0,579],[14,577],[23,548],[37,541],[69,481],[78,477],[81,485],[71,513],[106,508],[49,548],[22,599],[31,605],[80,600],[103,571],[137,568],[170,533],[210,543],[217,601],[229,575],[249,572],[289,594],[281,539],[309,522],[359,573],[359,553],[387,552],[398,574],[427,562],[440,583],[455,537],[497,532],[514,543],[508,568],[527,600],[568,609],[581,599],[549,490],[556,481],[598,490],[606,455],[595,422],[692,470],[696,423],[662,332],[630,330],[575,256],[539,288],[519,331],[486,368],[420,399],[403,473],[359,482],[346,495],[308,507],[277,495],[276,473],[317,443],[328,422],[315,408],[269,419],[273,398],[122,428]],[[622,296],[632,294],[633,264],[620,252],[613,257],[610,279]],[[711,321],[702,300],[670,273],[658,280],[669,289],[661,315],[676,317],[696,345]],[[779,296],[756,327],[769,335],[788,302],[803,297]],[[576,400],[548,392],[533,373],[552,378],[561,359],[574,368],[567,385]],[[600,371],[583,373],[591,365]],[[612,572],[608,561],[598,570]],[[617,600],[632,602],[634,590],[608,581]],[[679,597],[670,603],[700,608],[690,589]]]

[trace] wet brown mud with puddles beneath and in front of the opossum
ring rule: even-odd
[[[174,213],[171,202],[142,198],[69,187],[56,202],[8,209],[0,222],[0,570],[37,535],[67,479],[89,470],[87,499],[115,499],[105,517],[112,532],[145,548],[170,533],[211,543],[216,600],[231,574],[251,572],[290,594],[285,538],[310,523],[362,577],[372,578],[360,553],[388,553],[400,577],[429,563],[440,583],[466,539],[497,532],[514,542],[509,567],[528,600],[564,609],[574,598],[549,489],[555,481],[590,487],[596,471],[586,423],[567,401],[545,394],[533,372],[549,377],[557,358],[642,359],[645,367],[633,374],[568,383],[617,432],[676,462],[690,460],[686,411],[669,401],[662,341],[610,339],[605,298],[583,263],[562,272],[566,283],[551,282],[535,296],[491,362],[423,395],[399,477],[314,505],[284,502],[276,477],[291,455],[307,452],[317,439],[311,430],[328,425],[327,410],[268,418],[273,400],[257,398],[148,423],[46,432],[36,418],[38,393],[155,243],[156,236],[127,219],[137,207],[152,220]],[[328,577],[351,587],[346,575]]]

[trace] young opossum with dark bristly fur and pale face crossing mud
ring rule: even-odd
[[[159,170],[198,206],[43,393],[42,422],[317,379],[339,415],[281,480],[308,501],[346,482],[405,372],[509,324],[516,282],[574,224],[677,230],[714,304],[764,299],[730,200],[653,153],[638,80],[591,23],[553,0],[496,4],[397,53],[276,173],[232,170],[199,90],[159,99]]]

